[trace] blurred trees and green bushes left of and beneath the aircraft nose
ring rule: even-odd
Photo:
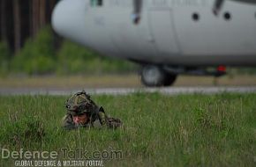
[[[132,63],[57,37],[49,23],[58,1],[0,0],[0,76],[134,71]]]

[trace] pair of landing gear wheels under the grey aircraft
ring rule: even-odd
[[[141,70],[141,82],[147,86],[169,86],[176,77],[176,74],[168,73],[156,65],[147,65]]]

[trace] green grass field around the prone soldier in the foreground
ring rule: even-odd
[[[104,166],[256,165],[256,94],[97,95],[94,101],[124,127],[77,131],[61,128],[66,98],[0,97],[1,149],[122,151]],[[1,158],[0,166],[14,160]]]

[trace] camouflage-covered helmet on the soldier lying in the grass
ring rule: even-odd
[[[94,106],[94,101],[91,100],[86,91],[75,93],[71,98],[68,98],[65,103],[68,113],[72,115],[91,113]]]

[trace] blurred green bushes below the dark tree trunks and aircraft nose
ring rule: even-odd
[[[6,75],[102,75],[132,73],[137,65],[124,60],[102,56],[69,40],[55,47],[50,26],[41,28],[34,38],[13,54],[7,43],[0,42],[1,76]]]

